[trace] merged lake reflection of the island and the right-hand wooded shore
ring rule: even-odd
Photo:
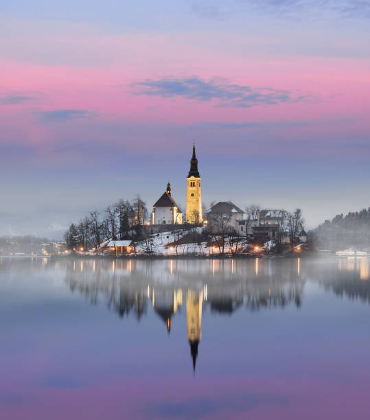
[[[169,335],[177,317],[183,316],[178,314],[185,310],[194,372],[202,338],[202,316],[232,316],[242,307],[247,311],[274,310],[288,305],[299,309],[308,281],[317,282],[337,295],[370,302],[367,258],[353,261],[94,259],[56,264],[64,266],[65,281],[71,292],[82,294],[93,305],[105,303],[120,317],[133,316],[138,322],[152,312],[163,322]]]

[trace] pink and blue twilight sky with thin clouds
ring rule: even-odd
[[[0,3],[0,235],[61,239],[167,182],[185,207],[370,206],[370,1]]]

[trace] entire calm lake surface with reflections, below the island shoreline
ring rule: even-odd
[[[0,259],[0,418],[369,419],[369,262]]]

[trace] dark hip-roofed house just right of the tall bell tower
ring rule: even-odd
[[[242,220],[244,211],[231,201],[220,201],[207,211],[207,223],[211,233],[239,233],[242,231],[243,225],[239,224]]]

